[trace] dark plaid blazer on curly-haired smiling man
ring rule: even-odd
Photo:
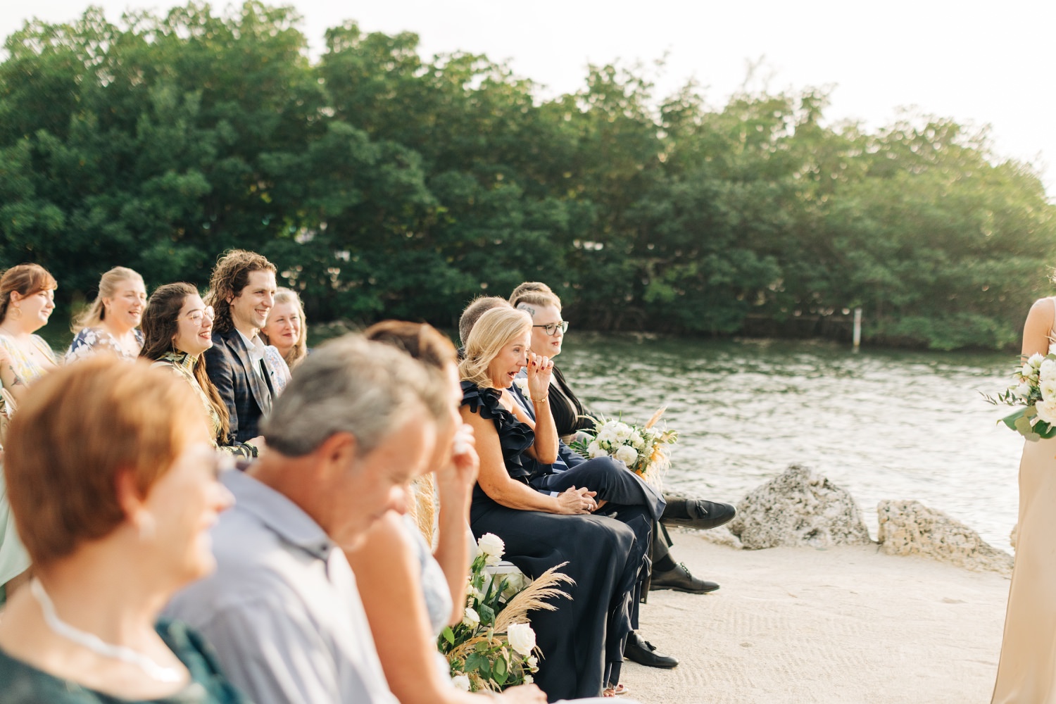
[[[260,435],[261,418],[271,412],[274,382],[253,372],[242,336],[233,327],[227,332],[212,334],[212,347],[205,350],[205,370],[220,392],[231,417],[230,439],[238,442]],[[268,376],[275,369],[264,365]]]

